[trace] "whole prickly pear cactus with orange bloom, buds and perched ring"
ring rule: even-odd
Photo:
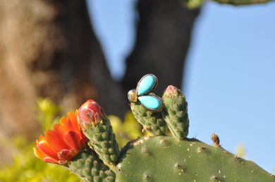
[[[119,150],[104,110],[87,100],[40,136],[35,155],[68,167],[82,181],[275,181],[254,162],[221,148],[216,134],[214,145],[187,138],[185,96],[168,86],[161,98],[152,93],[156,86],[157,77],[146,74],[128,93],[142,131],[153,136],[141,136]],[[166,135],[168,129],[171,136]]]

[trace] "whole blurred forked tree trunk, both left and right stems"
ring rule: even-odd
[[[37,97],[51,98],[64,111],[92,98],[107,114],[123,117],[129,109],[127,92],[143,74],[157,75],[159,93],[168,84],[181,87],[198,11],[178,0],[140,0],[138,13],[135,48],[126,76],[117,83],[84,0],[0,0],[0,138],[24,134],[34,139]]]

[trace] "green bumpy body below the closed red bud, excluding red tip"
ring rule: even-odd
[[[104,160],[107,164],[116,163],[119,149],[109,119],[104,119],[96,126],[86,129],[83,133],[89,138],[90,145],[92,145],[92,148],[99,155],[100,159]]]

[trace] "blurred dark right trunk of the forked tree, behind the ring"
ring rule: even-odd
[[[170,84],[181,88],[185,57],[199,9],[189,10],[178,0],[140,0],[138,13],[137,41],[127,59],[123,85],[126,90],[134,89],[144,74],[152,73],[159,79],[156,91],[159,96]]]

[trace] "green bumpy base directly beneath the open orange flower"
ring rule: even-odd
[[[92,151],[80,152],[68,165],[73,174],[78,175],[82,181],[115,181],[116,174],[104,165],[102,160]]]

